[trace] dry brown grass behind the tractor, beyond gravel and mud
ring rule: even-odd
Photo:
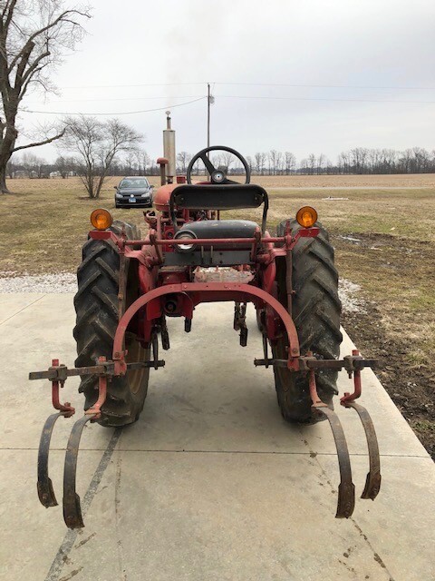
[[[353,177],[359,179],[362,176]],[[263,178],[264,181],[267,179]],[[278,179],[281,182],[286,180]],[[91,227],[89,216],[98,206],[106,207],[115,218],[140,224],[143,229],[139,209],[115,210],[113,185],[118,182],[118,177],[108,179],[100,200],[86,198],[78,178],[10,182],[16,193],[0,196],[3,234],[0,238],[0,271],[74,271],[80,261],[82,242]],[[151,178],[151,182],[158,183],[159,178]],[[348,200],[323,200],[328,195]],[[269,196],[268,224],[271,231],[278,222],[295,216],[300,206],[311,204],[318,210],[320,220],[337,234],[374,232],[435,240],[432,218],[435,215],[435,194],[429,188],[346,192],[272,189]],[[230,212],[230,215],[259,219],[258,212]]]

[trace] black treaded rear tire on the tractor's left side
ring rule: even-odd
[[[139,240],[136,226],[115,221],[110,230],[121,234],[125,228],[129,240]],[[126,297],[122,312],[139,296],[136,261],[125,261]],[[77,342],[77,367],[95,365],[98,357],[111,359],[113,340],[119,320],[120,255],[112,241],[90,238],[82,248],[82,264],[77,270],[78,291],[74,297]],[[125,349],[127,362],[147,361],[150,349],[141,347],[136,335],[127,332]],[[102,426],[125,426],[139,419],[147,396],[150,369],[134,369],[107,382],[107,399],[102,406],[99,423]],[[97,376],[84,376],[79,391],[84,394],[84,409],[89,409],[98,397]]]

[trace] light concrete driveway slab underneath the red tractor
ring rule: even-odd
[[[48,381],[29,370],[52,357],[73,366],[73,295],[0,295],[0,578],[5,581],[245,581],[435,579],[435,468],[372,371],[362,404],[382,453],[382,491],[334,518],[338,484],[326,422],[286,425],[273,372],[256,369],[261,340],[250,313],[248,347],[233,309],[198,307],[192,332],[169,321],[167,365],[151,370],[140,421],[85,429],[79,494],[85,525],[68,531],[62,507],[36,496],[36,456],[51,413]],[[343,352],[353,345],[345,337]],[[82,409],[77,379],[63,399]],[[339,389],[349,389],[340,377]],[[362,427],[339,409],[362,491],[368,467]],[[71,420],[54,429],[51,476],[62,497]]]

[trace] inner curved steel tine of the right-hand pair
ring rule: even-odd
[[[340,484],[338,487],[337,512],[335,518],[352,517],[355,507],[355,487],[352,481],[351,458],[344,436],[343,426],[337,414],[329,408],[314,408],[324,413],[333,430],[333,439],[337,448],[338,465],[340,468]]]

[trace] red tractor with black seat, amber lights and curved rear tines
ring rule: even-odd
[[[244,183],[215,168],[208,153],[233,153],[245,168]],[[192,183],[198,160],[209,179]],[[162,162],[164,172],[165,160]],[[343,428],[333,411],[339,369],[353,378],[353,392],[340,403],[362,420],[369,448],[370,471],[362,498],[377,496],[381,485],[379,450],[366,409],[355,403],[361,394],[361,371],[372,367],[358,351],[338,359],[342,341],[338,274],[333,246],[317,222],[314,208],[298,210],[285,219],[275,236],[266,229],[268,197],[250,183],[246,160],[227,147],[210,147],[193,157],[187,183],[165,184],[154,196],[154,210],[145,212],[148,232],[143,238],[131,224],[112,222],[110,212],[95,210],[78,269],[74,305],[77,322],[76,368],[53,360],[47,371],[30,379],[49,379],[57,413],[44,425],[38,457],[38,495],[44,507],[57,505],[48,476],[48,454],[55,421],[74,409],[62,404],[59,389],[71,376],[80,376],[84,415],[73,425],[65,455],[63,517],[67,527],[83,527],[76,494],[77,456],[84,425],[98,422],[121,427],[140,417],[150,369],[165,365],[159,346],[169,349],[167,317],[183,317],[191,330],[195,307],[201,302],[235,303],[234,329],[247,346],[247,303],[256,308],[264,352],[256,366],[273,369],[279,409],[286,421],[327,419],[336,443],[340,485],[336,517],[350,517],[354,486]],[[221,220],[224,210],[263,208],[261,223]],[[272,370],[271,370],[272,372]]]

